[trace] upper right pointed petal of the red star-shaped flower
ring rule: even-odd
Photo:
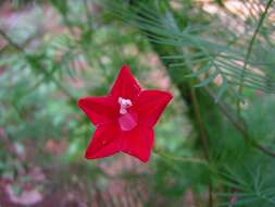
[[[172,98],[173,95],[167,92],[142,90],[136,102],[138,122],[153,126]]]

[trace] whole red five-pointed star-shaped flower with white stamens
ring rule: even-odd
[[[153,126],[172,97],[167,92],[142,90],[124,65],[109,95],[78,100],[78,107],[96,126],[85,157],[96,159],[123,151],[148,161]]]

